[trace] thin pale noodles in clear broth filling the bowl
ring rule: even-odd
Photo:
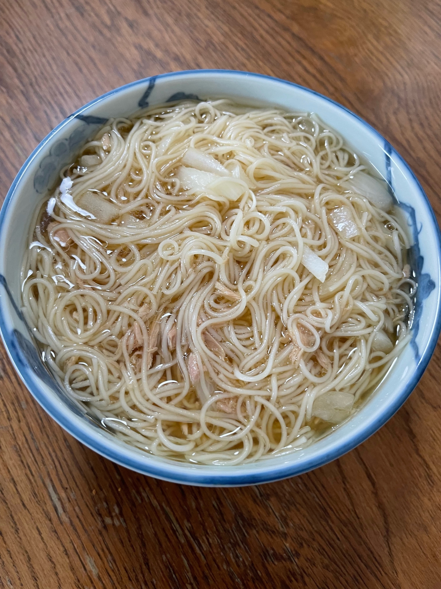
[[[386,183],[314,115],[184,101],[109,121],[36,211],[23,305],[125,441],[235,465],[348,418],[409,341]]]

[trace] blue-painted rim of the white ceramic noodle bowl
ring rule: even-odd
[[[335,105],[336,107],[342,109],[346,113],[350,115],[350,117],[354,118],[358,123],[363,124],[368,130],[375,134],[379,140],[382,141],[382,144],[385,145],[388,142],[385,138],[375,130],[369,123],[366,123],[361,117],[346,108],[339,102],[328,98],[327,96],[320,94],[314,90],[310,90],[310,88],[306,88],[299,84],[295,84],[295,82],[289,82],[288,80],[282,80],[281,78],[275,78],[272,76],[264,75],[264,74],[256,74],[253,72],[246,72],[246,71],[239,71],[239,70],[185,70],[185,71],[178,71],[178,72],[169,72],[167,74],[159,74],[154,77],[150,78],[143,78],[142,80],[136,80],[129,84],[123,85],[115,90],[111,90],[106,92],[106,94],[102,94],[100,97],[95,98],[91,102],[88,102],[83,107],[79,108],[79,110],[75,111],[69,117],[66,117],[64,121],[59,123],[52,131],[49,133],[44,140],[37,145],[37,147],[32,151],[31,155],[27,158],[19,173],[14,179],[14,182],[9,188],[8,193],[6,194],[5,201],[3,206],[0,210],[0,233],[3,229],[3,224],[6,217],[6,211],[11,203],[12,197],[14,196],[15,188],[19,181],[21,180],[22,176],[24,176],[29,164],[31,161],[34,160],[36,155],[42,150],[44,145],[51,140],[51,138],[58,133],[58,131],[63,128],[72,118],[76,117],[76,115],[81,114],[82,112],[88,110],[92,105],[98,104],[105,98],[112,96],[113,94],[117,94],[119,92],[125,91],[128,88],[133,88],[135,86],[142,87],[145,84],[148,84],[153,79],[156,81],[161,78],[175,78],[181,77],[185,75],[206,75],[206,74],[218,74],[218,75],[238,75],[240,77],[253,77],[253,78],[260,78],[263,80],[269,80],[274,82],[281,82],[283,84],[287,84],[293,86],[295,88],[299,88],[302,91],[309,92],[326,102],[330,102],[330,104]],[[389,144],[390,145],[390,144]],[[429,212],[429,217],[432,218],[433,226],[435,227],[435,233],[437,237],[437,261],[438,261],[438,269],[439,269],[439,276],[441,276],[441,233],[439,230],[438,223],[436,221],[435,213],[433,213],[432,206],[430,206],[429,199],[427,198],[425,191],[423,190],[422,186],[417,180],[415,174],[413,173],[412,169],[403,159],[403,157],[393,148],[390,146],[390,157],[393,156],[395,160],[399,161],[404,168],[406,168],[407,172],[410,174],[413,183],[417,191],[419,191],[420,195],[423,197],[422,200],[425,203],[426,209]],[[92,435],[92,426],[85,426],[84,428],[77,428],[75,423],[70,421],[63,415],[61,409],[57,406],[56,402],[52,402],[49,399],[44,391],[36,384],[35,376],[30,368],[29,364],[24,362],[22,358],[16,353],[17,344],[18,342],[14,341],[15,336],[10,334],[6,329],[5,320],[2,314],[2,309],[0,306],[0,333],[5,344],[6,351],[11,359],[16,372],[24,382],[26,388],[28,388],[29,392],[31,392],[32,396],[36,399],[36,401],[41,405],[46,412],[51,415],[51,417],[64,428],[69,434],[74,436],[74,438],[78,439],[80,442],[91,448],[93,451],[97,452],[98,454],[102,455],[109,460],[116,462],[121,466],[125,466],[126,468],[130,468],[133,471],[139,472],[144,475],[149,475],[155,478],[159,478],[165,481],[176,482],[186,485],[198,485],[198,486],[216,486],[216,487],[233,487],[233,486],[243,486],[243,485],[254,485],[260,484],[265,482],[273,482],[278,481],[280,479],[293,477],[295,475],[303,474],[304,472],[308,472],[314,468],[318,468],[319,466],[323,466],[330,461],[339,458],[346,452],[349,452],[362,442],[366,441],[372,434],[380,429],[393,415],[394,413],[403,405],[406,399],[409,397],[410,393],[412,393],[413,389],[415,389],[417,383],[419,382],[420,378],[423,375],[427,368],[427,364],[429,363],[430,358],[435,350],[435,346],[437,343],[437,339],[439,333],[441,331],[441,283],[437,284],[436,286],[436,295],[437,295],[437,309],[436,309],[436,319],[432,327],[432,333],[429,337],[429,342],[427,342],[426,348],[424,349],[422,355],[420,356],[419,360],[417,361],[416,368],[413,372],[412,378],[402,387],[402,390],[399,392],[398,395],[395,396],[393,402],[389,403],[386,407],[385,411],[383,411],[375,420],[366,424],[365,427],[360,428],[355,434],[349,436],[349,439],[344,440],[338,445],[335,445],[334,448],[330,449],[330,451],[326,451],[326,449],[321,452],[318,456],[312,456],[305,461],[298,462],[296,464],[282,464],[279,466],[269,466],[268,469],[262,470],[260,472],[246,472],[244,470],[240,470],[240,466],[238,468],[237,474],[222,474],[222,467],[220,467],[219,471],[216,474],[204,472],[204,467],[200,466],[198,469],[189,468],[187,465],[183,466],[179,462],[175,462],[174,464],[172,461],[166,464],[159,464],[155,461],[148,461],[145,459],[144,456],[140,455],[140,458],[137,460],[132,456],[127,456],[122,451],[122,448],[119,444],[112,444],[111,440],[108,438],[105,441],[101,441],[98,439],[98,436]],[[88,431],[90,428],[90,432]],[[346,436],[348,438],[348,436]],[[148,456],[148,455],[147,455]]]

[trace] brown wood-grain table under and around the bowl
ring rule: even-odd
[[[161,72],[275,75],[400,151],[441,216],[436,0],[4,0],[0,194],[66,115]],[[182,487],[66,434],[0,356],[0,588],[441,588],[441,350],[383,429],[287,481]]]

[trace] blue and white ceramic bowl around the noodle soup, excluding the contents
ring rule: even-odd
[[[417,274],[412,342],[397,358],[368,402],[339,428],[304,450],[240,466],[182,464],[145,454],[88,416],[66,395],[41,361],[21,313],[19,268],[31,217],[59,171],[108,118],[181,98],[229,97],[252,105],[315,112],[346,138],[386,178],[415,244]],[[441,248],[433,210],[403,158],[370,125],[341,105],[291,82],[238,71],[199,70],[132,82],[96,98],[66,118],[36,147],[21,168],[0,212],[0,329],[14,366],[56,422],[102,456],[134,471],[191,485],[249,485],[292,477],[338,458],[365,441],[406,401],[421,378],[440,332]]]

